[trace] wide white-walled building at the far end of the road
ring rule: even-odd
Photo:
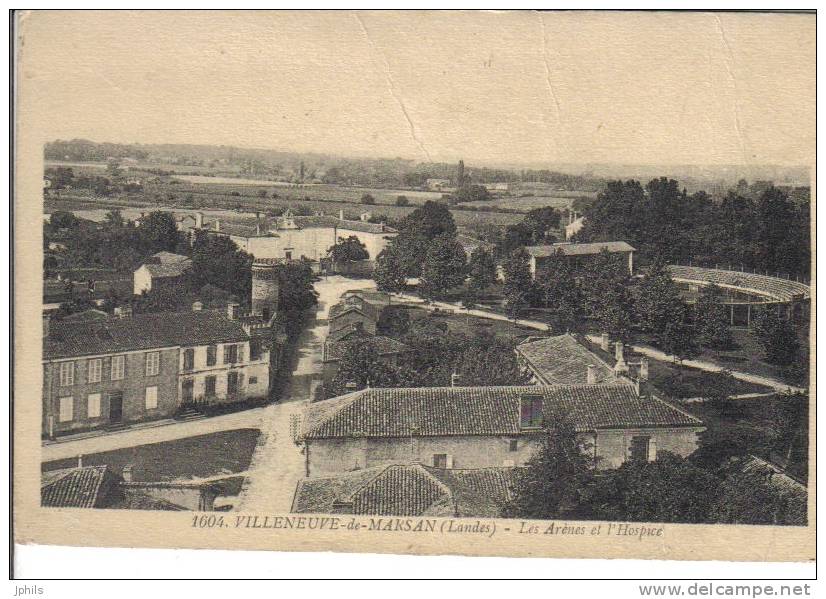
[[[319,262],[327,256],[327,250],[340,238],[354,236],[364,244],[368,260],[387,247],[398,231],[383,223],[367,220],[350,220],[340,213],[338,217],[328,215],[294,216],[285,215],[266,219],[261,216],[233,219],[205,219],[198,213],[194,218],[182,221],[182,230],[194,235],[202,230],[210,235],[229,237],[245,252],[256,258],[277,258],[298,260],[305,258]]]

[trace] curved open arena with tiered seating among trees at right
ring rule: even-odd
[[[737,270],[669,265],[671,278],[686,303],[693,304],[709,285],[720,289],[731,326],[747,327],[761,310],[773,309],[795,321],[808,317],[811,289],[806,283]]]

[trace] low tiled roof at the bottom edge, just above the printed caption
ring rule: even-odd
[[[292,511],[496,517],[510,496],[512,470],[443,470],[409,464],[309,478],[298,483]]]

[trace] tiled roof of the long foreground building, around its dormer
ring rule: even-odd
[[[364,389],[311,404],[306,439],[514,435],[520,398],[541,396],[546,419],[567,417],[579,431],[702,426],[697,418],[632,385]]]

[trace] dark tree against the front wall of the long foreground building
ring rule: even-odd
[[[505,518],[551,520],[575,515],[594,485],[588,446],[565,418],[546,419],[540,449],[516,471]]]

